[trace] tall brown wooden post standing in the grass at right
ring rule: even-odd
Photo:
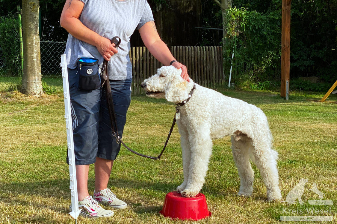
[[[281,97],[286,97],[290,73],[290,3],[291,0],[282,0]]]

